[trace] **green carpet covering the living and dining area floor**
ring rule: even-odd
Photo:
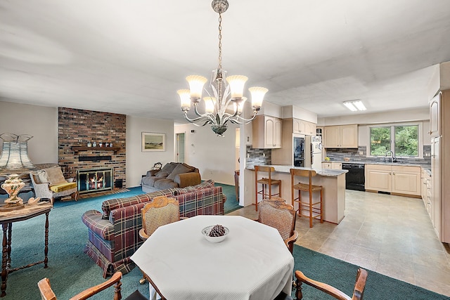
[[[233,186],[231,186],[234,188]],[[81,221],[84,211],[101,210],[101,202],[114,197],[127,197],[142,193],[141,188],[130,188],[127,193],[105,195],[79,200],[77,202],[56,202],[49,215],[49,268],[43,265],[18,270],[8,276],[6,296],[3,299],[40,299],[37,282],[47,277],[58,299],[69,299],[82,290],[103,282],[102,271],[84,254],[88,239],[86,226]],[[234,193],[234,192],[233,192]],[[228,195],[227,195],[228,197]],[[230,198],[227,200],[229,202]],[[234,200],[236,203],[236,200]],[[233,203],[233,202],[231,202]],[[13,223],[11,266],[23,266],[44,258],[45,216]],[[313,252],[295,245],[295,269],[316,280],[351,294],[356,278],[357,266],[330,256]],[[134,268],[124,275],[122,296],[126,297],[136,289],[148,296],[148,284],[139,285],[141,273]],[[326,299],[323,293],[304,286],[304,299]],[[94,296],[92,299],[112,299],[113,289]],[[365,299],[449,299],[426,289],[394,280],[369,271]]]

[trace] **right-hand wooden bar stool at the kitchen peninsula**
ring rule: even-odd
[[[300,177],[308,177],[309,183],[297,183],[294,184],[294,176]],[[294,203],[298,202],[298,214],[299,216],[307,216],[309,217],[309,228],[312,228],[312,219],[321,219],[321,223],[323,223],[323,186],[322,185],[313,185],[312,179],[316,176],[316,171],[314,170],[300,170],[300,169],[290,169],[290,183],[291,183],[291,195],[292,195],[292,204],[295,207]],[[295,190],[298,190],[298,197],[295,197]],[[319,202],[313,202],[312,196],[314,192],[321,193],[321,200]],[[302,201],[302,192],[309,193],[309,201]],[[308,211],[308,214],[303,214],[303,211]]]

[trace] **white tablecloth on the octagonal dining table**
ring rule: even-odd
[[[201,230],[221,224],[226,239]],[[195,216],[158,228],[131,259],[168,300],[274,299],[290,294],[294,259],[278,230],[242,216]]]

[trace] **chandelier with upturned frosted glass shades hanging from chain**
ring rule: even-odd
[[[226,11],[229,4],[226,0],[213,0],[212,9],[219,13],[219,66],[217,70],[212,71],[210,81],[210,91],[205,89],[207,96],[203,98],[205,103],[205,113],[200,113],[198,103],[202,99],[203,86],[207,82],[206,77],[190,75],[186,77],[189,89],[178,90],[177,93],[181,100],[181,110],[184,117],[196,126],[205,126],[211,124],[211,129],[217,136],[223,136],[228,122],[233,124],[248,124],[255,119],[258,110],[261,108],[264,94],[268,91],[266,88],[255,86],[248,89],[252,97],[253,115],[250,119],[241,117],[243,105],[246,97],[243,96],[245,81],[248,77],[242,75],[228,76],[226,70],[222,70],[222,44],[221,44],[221,14]],[[191,103],[194,106],[194,112],[197,117],[191,119],[188,117],[188,111],[191,110]]]

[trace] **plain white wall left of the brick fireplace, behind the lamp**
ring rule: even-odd
[[[28,157],[33,164],[58,163],[58,107],[0,101],[0,134],[33,136]],[[0,152],[3,141],[0,139]]]

